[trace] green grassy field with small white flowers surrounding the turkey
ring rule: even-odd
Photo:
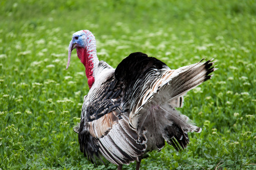
[[[151,152],[141,169],[256,169],[255,1],[2,0],[0,25],[0,169],[117,168],[88,162],[72,130],[89,90],[75,52],[65,70],[81,29],[113,67],[138,51],[172,69],[217,61],[179,109],[203,131],[184,151]]]

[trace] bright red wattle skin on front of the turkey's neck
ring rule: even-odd
[[[84,48],[77,48],[76,52],[77,52],[77,57],[79,57],[81,63],[85,67],[85,74],[86,74],[86,77],[88,78],[88,86],[89,86],[89,88],[91,88],[93,83],[94,83],[93,56],[90,55],[87,48],[85,48],[85,49]]]

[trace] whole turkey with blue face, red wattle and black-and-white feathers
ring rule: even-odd
[[[189,131],[200,133],[201,128],[175,108],[183,106],[189,90],[212,77],[212,60],[171,70],[159,59],[137,52],[113,69],[98,60],[95,37],[82,30],[72,36],[67,69],[75,48],[85,66],[89,92],[74,131],[81,152],[92,163],[103,155],[118,169],[137,161],[138,170],[145,154],[160,151],[165,141],[181,150],[188,145]]]

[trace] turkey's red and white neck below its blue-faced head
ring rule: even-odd
[[[98,66],[98,57],[96,54],[96,41],[87,39],[87,46],[85,48],[77,48],[77,56],[85,67],[85,74],[88,78],[88,86],[92,87],[94,83],[94,70]]]

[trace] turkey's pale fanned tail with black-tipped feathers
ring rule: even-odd
[[[141,107],[143,109],[134,114],[134,118],[137,119],[139,130],[150,129],[148,131],[156,134],[153,136],[158,149],[164,145],[161,138],[174,146],[176,150],[184,149],[189,143],[188,132],[201,132],[201,128],[194,125],[187,116],[176,111],[175,107],[182,107],[183,96],[212,77],[210,74],[217,69],[211,61],[166,71],[162,78],[152,84],[151,100],[144,102],[146,104]],[[156,92],[155,89],[157,89]],[[155,118],[155,121],[144,121],[144,116]]]

